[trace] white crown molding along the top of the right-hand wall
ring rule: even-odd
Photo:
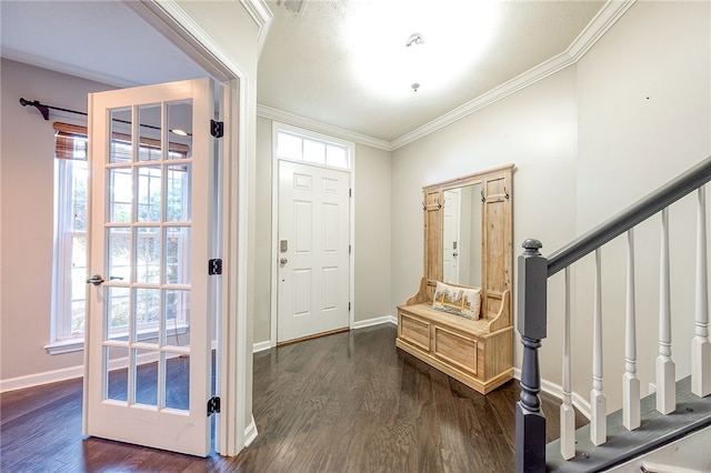
[[[529,69],[508,82],[491,91],[467,102],[454,110],[432,120],[431,122],[398,138],[391,143],[392,150],[404,147],[422,137],[425,137],[448,124],[468,117],[499,100],[518,92],[521,89],[545,79],[577,63],[585,52],[590,50],[610,28],[634,4],[637,0],[611,0],[592,19],[590,24],[578,36],[573,43],[564,52],[549,59],[541,64]]]

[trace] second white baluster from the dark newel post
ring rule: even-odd
[[[595,250],[595,286],[592,328],[592,391],[590,392],[590,441],[601,445],[608,436],[607,401],[602,392],[602,268]]]

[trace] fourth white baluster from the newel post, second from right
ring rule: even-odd
[[[657,356],[657,410],[669,414],[677,409],[675,365],[671,360],[671,302],[669,283],[669,209],[662,210],[661,261],[659,274],[659,356]]]

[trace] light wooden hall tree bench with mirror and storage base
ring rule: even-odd
[[[424,276],[418,293],[398,306],[395,346],[482,394],[513,379],[512,170],[508,164],[423,188]],[[450,212],[450,198],[473,210],[461,204]],[[452,215],[467,217],[461,225],[470,235],[452,236],[445,228]],[[478,268],[457,266],[465,261]],[[465,281],[454,280],[462,274]],[[479,319],[434,309],[438,281],[481,288]]]

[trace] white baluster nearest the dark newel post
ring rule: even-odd
[[[571,395],[570,360],[570,268],[565,268],[565,320],[563,322],[563,403],[560,405],[560,455],[575,456],[575,411]]]

